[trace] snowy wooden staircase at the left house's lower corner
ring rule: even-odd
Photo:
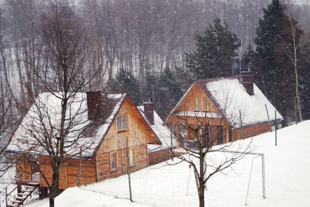
[[[16,196],[14,196],[14,200],[8,200],[7,207],[19,207],[20,205],[23,205],[25,200],[35,191],[37,187],[39,187],[40,184],[37,182],[28,182],[27,185],[23,185],[21,188],[21,192],[17,193]],[[9,203],[11,202],[11,203]]]

